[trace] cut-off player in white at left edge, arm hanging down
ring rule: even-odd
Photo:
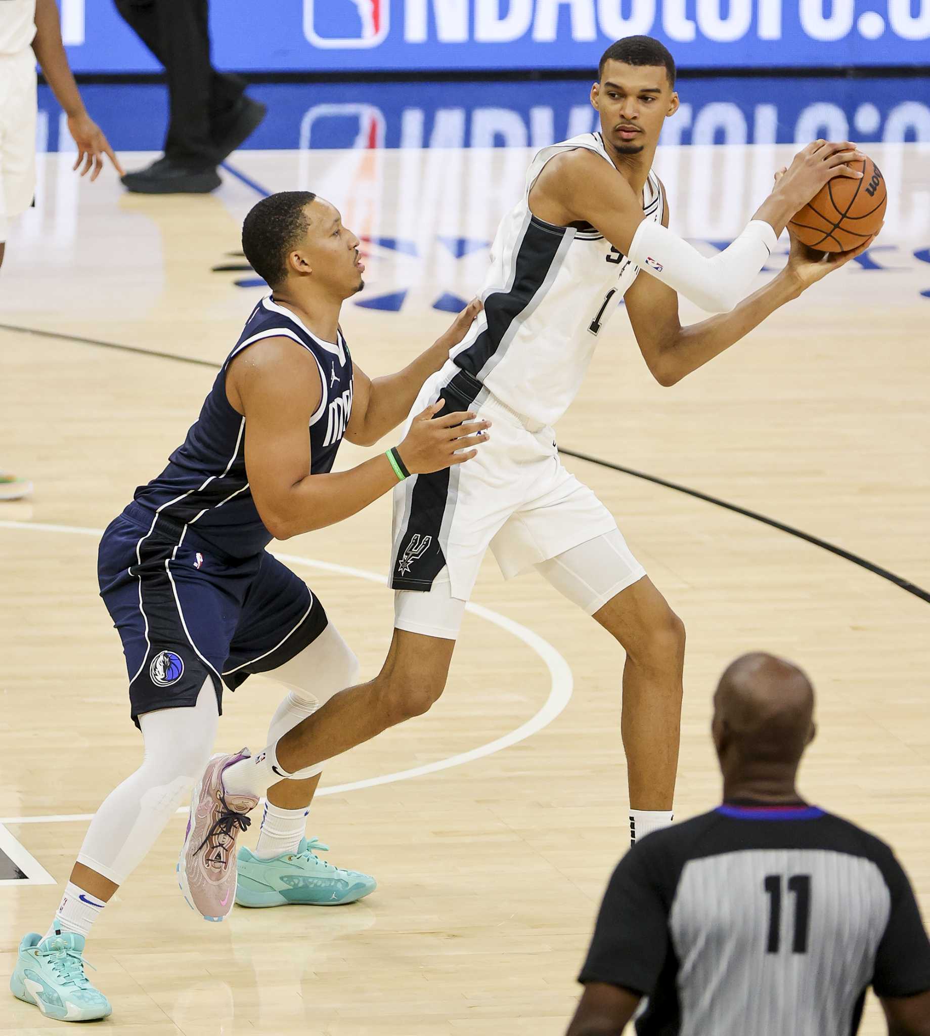
[[[32,205],[35,196],[35,63],[67,115],[78,145],[75,169],[95,180],[104,155],[123,169],[100,127],[90,118],[61,42],[55,0],[0,0],[0,265],[11,221]],[[92,170],[92,172],[91,172]],[[0,471],[0,500],[18,500],[32,492],[26,479]]]

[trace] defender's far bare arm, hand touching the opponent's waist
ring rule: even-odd
[[[397,428],[410,412],[423,383],[448,359],[449,349],[462,341],[481,311],[481,299],[472,299],[448,330],[396,374],[369,378],[355,364],[352,415],[346,426],[346,438],[357,445],[370,447]]]

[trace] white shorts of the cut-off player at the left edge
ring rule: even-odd
[[[35,194],[35,55],[0,54],[0,241]]]

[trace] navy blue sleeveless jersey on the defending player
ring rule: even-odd
[[[263,550],[271,534],[259,517],[245,474],[245,419],[226,398],[226,372],[233,356],[263,338],[290,338],[316,359],[323,395],[310,421],[311,473],[331,470],[352,412],[352,357],[343,338],[325,342],[290,310],[263,298],[252,311],[236,347],[216,375],[197,423],[171,455],[168,467],[135,493],[159,528],[182,537],[187,526],[231,557]],[[143,516],[148,518],[148,515]]]

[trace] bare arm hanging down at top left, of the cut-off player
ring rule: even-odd
[[[35,2],[35,38],[32,50],[38,61],[42,75],[52,87],[56,99],[67,115],[67,127],[78,145],[78,157],[75,169],[84,163],[81,175],[92,169],[91,180],[95,180],[104,168],[104,155],[108,155],[116,171],[123,175],[125,170],[119,164],[113,148],[110,146],[103,131],[87,114],[84,102],[75,77],[67,63],[67,56],[61,42],[61,21],[58,5],[55,0],[36,0]]]

